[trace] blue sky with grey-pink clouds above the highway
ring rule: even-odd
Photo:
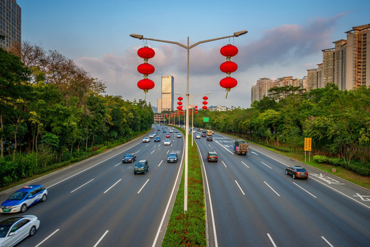
[[[169,40],[193,45],[201,40],[248,33],[201,43],[189,50],[189,104],[203,106],[202,94],[210,92],[208,106],[251,105],[251,86],[259,78],[303,78],[307,69],[322,62],[322,49],[346,39],[345,32],[370,23],[369,0],[249,1],[249,0],[17,0],[22,10],[22,40],[56,50],[106,84],[106,94],[138,101],[145,93],[137,82],[143,79],[137,55],[145,45],[156,55],[149,59],[156,86],[146,99],[157,107],[161,76],[173,75],[175,93],[186,95],[186,53],[179,45],[139,40]],[[220,54],[232,44],[238,54],[231,58],[238,81],[226,98],[219,82],[226,77],[219,66]],[[176,99],[176,97],[175,97]],[[175,100],[175,107],[177,106]],[[185,102],[184,102],[185,104]]]

